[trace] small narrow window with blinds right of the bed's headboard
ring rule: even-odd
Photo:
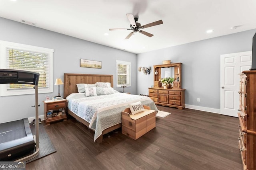
[[[131,63],[116,61],[116,87],[131,86]]]

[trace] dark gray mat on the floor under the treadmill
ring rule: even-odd
[[[35,135],[35,125],[30,124],[30,127],[33,135]],[[41,123],[39,124],[39,154],[33,159],[26,161],[26,163],[32,162],[54,152],[56,152],[56,149],[52,145],[52,141],[46,133],[44,125]]]

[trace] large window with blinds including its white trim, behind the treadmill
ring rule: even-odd
[[[0,68],[38,72],[38,93],[53,92],[53,49],[0,41]],[[30,84],[1,84],[0,96],[34,94]]]

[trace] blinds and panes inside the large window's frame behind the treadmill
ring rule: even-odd
[[[38,89],[49,88],[49,55],[36,51],[6,48],[6,68],[38,72]],[[8,84],[7,90],[33,88],[30,84]]]

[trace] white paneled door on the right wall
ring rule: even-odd
[[[220,113],[238,117],[239,74],[252,65],[252,51],[220,55]]]

